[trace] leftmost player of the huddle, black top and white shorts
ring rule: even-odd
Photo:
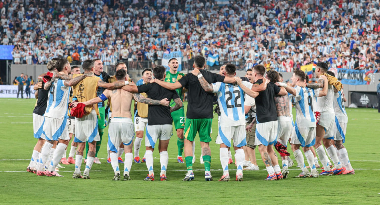
[[[55,60],[54,65],[55,65]],[[50,62],[49,62],[50,63]],[[48,67],[52,65],[52,63],[49,64]],[[54,66],[55,67],[55,66]],[[42,77],[45,74],[41,74],[38,78]],[[31,161],[26,169],[26,171],[31,173],[37,172],[37,162],[39,155],[41,154],[41,149],[43,144],[45,143],[45,135],[43,134],[43,123],[44,123],[44,117],[46,111],[46,104],[47,104],[47,96],[49,91],[43,89],[43,81],[39,81],[38,83],[33,87],[35,91],[35,97],[37,98],[36,106],[33,109],[33,137],[38,139],[35,147],[33,148],[32,158]]]

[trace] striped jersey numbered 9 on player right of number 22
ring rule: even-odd
[[[313,101],[314,101],[314,89],[311,88],[302,88],[300,86],[296,86],[296,96],[295,96],[295,104],[296,104],[296,123],[300,128],[311,128],[316,127],[315,123],[315,115],[313,109]]]

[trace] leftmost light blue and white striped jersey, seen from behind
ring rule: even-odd
[[[65,86],[63,80],[55,79],[50,87],[45,117],[62,119],[67,116],[70,86]]]

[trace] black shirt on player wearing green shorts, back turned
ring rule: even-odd
[[[199,70],[208,83],[223,82],[224,76],[218,75],[203,69]],[[178,82],[182,87],[188,89],[188,110],[186,111],[186,118],[189,119],[202,119],[214,118],[213,114],[213,96],[214,93],[208,93],[203,90],[198,76],[189,73],[182,77]]]

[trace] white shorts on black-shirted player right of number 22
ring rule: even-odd
[[[257,123],[256,124],[256,138],[255,138],[255,145],[263,144],[264,146],[268,146],[270,144],[276,144],[277,143],[277,129],[278,129],[278,122],[271,121],[271,122],[263,122],[263,123]]]

